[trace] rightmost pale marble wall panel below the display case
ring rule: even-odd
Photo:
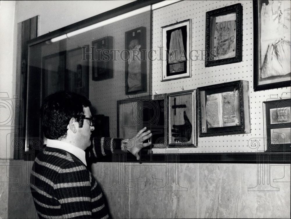
[[[198,190],[199,218],[290,218],[290,165],[199,164]]]

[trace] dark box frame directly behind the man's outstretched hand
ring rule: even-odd
[[[131,98],[117,101],[117,137],[131,138],[143,127],[150,130],[152,144],[166,139],[167,99]]]

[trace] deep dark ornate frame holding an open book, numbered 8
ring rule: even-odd
[[[197,88],[199,137],[251,132],[249,81]]]

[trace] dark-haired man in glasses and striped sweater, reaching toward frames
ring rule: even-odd
[[[86,97],[70,92],[49,95],[42,104],[47,147],[36,156],[31,171],[31,192],[40,218],[109,218],[102,189],[87,170],[85,157],[97,161],[115,150],[127,150],[139,159],[141,148],[151,144],[143,143],[151,136],[143,128],[126,141],[101,138],[89,147],[94,130],[90,106]]]

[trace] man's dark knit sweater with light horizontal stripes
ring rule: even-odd
[[[96,162],[100,156],[124,150],[122,145],[121,139],[94,139],[86,160]],[[111,217],[91,172],[76,156],[62,149],[45,147],[36,156],[31,193],[40,218]]]

